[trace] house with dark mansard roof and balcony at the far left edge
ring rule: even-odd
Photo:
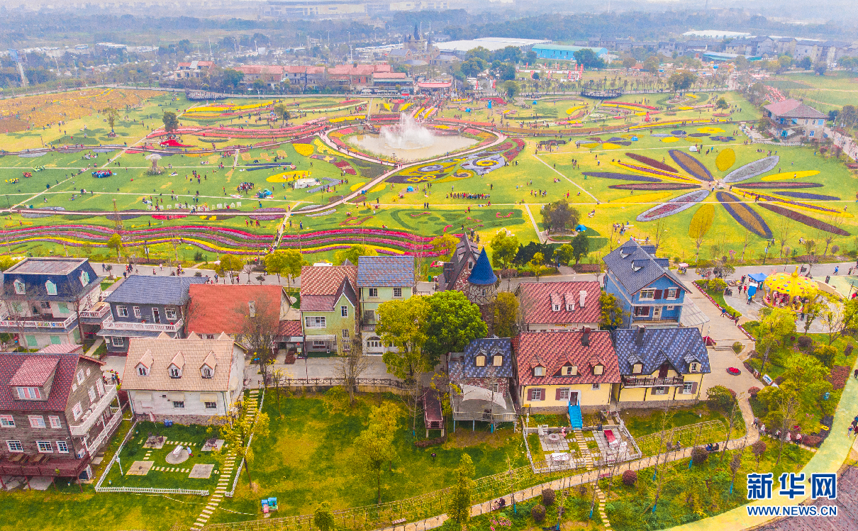
[[[15,335],[24,348],[80,343],[82,333],[97,329],[82,317],[98,304],[101,280],[86,258],[21,260],[3,273],[0,333]],[[104,317],[106,312],[95,323]]]

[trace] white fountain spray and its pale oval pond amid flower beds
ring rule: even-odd
[[[399,115],[398,124],[385,125],[380,134],[356,135],[347,142],[370,153],[407,162],[430,159],[477,143],[467,136],[435,135],[404,112]]]

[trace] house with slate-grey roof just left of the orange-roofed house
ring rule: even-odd
[[[205,281],[198,276],[130,275],[105,299],[110,316],[98,335],[105,338],[107,352],[127,353],[131,337],[154,338],[162,332],[182,337],[190,285]]]

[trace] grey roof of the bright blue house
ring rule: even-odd
[[[677,286],[684,288],[682,281],[668,269],[668,259],[656,258],[653,256],[655,252],[654,246],[642,246],[630,238],[602,261],[626,293],[637,293],[662,276],[668,276]]]

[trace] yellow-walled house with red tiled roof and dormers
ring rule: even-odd
[[[617,354],[607,330],[522,332],[516,355],[518,399],[531,413],[566,413],[607,408],[620,382]]]

